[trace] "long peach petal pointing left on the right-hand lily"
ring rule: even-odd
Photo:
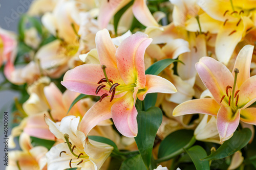
[[[220,105],[214,99],[195,99],[178,105],[173,111],[173,116],[194,113],[217,116],[219,109]]]

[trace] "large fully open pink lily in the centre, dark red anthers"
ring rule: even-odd
[[[147,93],[175,93],[168,80],[145,75],[144,54],[152,39],[136,33],[124,39],[118,48],[108,30],[96,34],[100,64],[84,64],[66,72],[61,84],[69,90],[101,96],[81,120],[80,131],[88,134],[99,122],[113,118],[118,131],[127,137],[137,135],[136,99]]]

